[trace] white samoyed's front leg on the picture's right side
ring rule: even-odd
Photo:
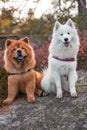
[[[77,92],[75,88],[76,81],[77,81],[77,73],[76,71],[71,71],[69,73],[69,85],[70,85],[70,93],[72,97],[77,97]]]

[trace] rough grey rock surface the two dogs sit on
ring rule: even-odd
[[[0,113],[0,130],[87,130],[87,86],[78,87],[78,97],[64,93],[15,101],[10,111]]]

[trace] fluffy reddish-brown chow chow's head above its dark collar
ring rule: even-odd
[[[19,40],[7,39],[4,53],[5,69],[21,72],[35,66],[35,55],[27,37]]]

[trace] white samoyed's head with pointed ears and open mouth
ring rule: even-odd
[[[56,21],[53,29],[53,37],[55,37],[56,41],[64,47],[75,44],[77,40],[77,32],[74,22],[69,19],[64,25],[62,25]]]

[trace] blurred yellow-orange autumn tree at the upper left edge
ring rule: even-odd
[[[0,15],[0,31],[12,33],[12,30],[15,31],[17,27],[17,21],[13,17],[14,9],[2,9],[2,13]],[[17,28],[16,28],[17,30]]]

